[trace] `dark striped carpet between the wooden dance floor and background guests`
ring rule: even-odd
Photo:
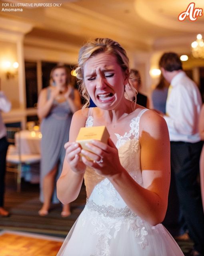
[[[42,206],[39,201],[39,185],[22,182],[22,190],[17,193],[13,175],[7,173],[6,176],[5,208],[9,210],[10,216],[0,218],[0,230],[34,232],[64,238],[84,208],[86,202],[84,186],[77,200],[70,204],[71,216],[62,218],[61,204],[53,204],[49,214],[41,217],[38,215],[38,210]]]

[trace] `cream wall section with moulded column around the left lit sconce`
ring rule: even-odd
[[[32,30],[32,25],[25,22],[0,17],[0,56],[17,61],[18,75],[14,78],[6,78],[5,70],[0,70],[2,76],[2,90],[12,101],[12,110],[4,113],[6,122],[21,122],[22,127],[26,123],[26,83],[24,67],[24,35]],[[4,49],[6,51],[4,52]],[[0,67],[1,68],[1,67]]]

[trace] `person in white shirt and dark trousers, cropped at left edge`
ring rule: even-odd
[[[10,108],[10,101],[8,101],[4,93],[0,91],[0,216],[2,217],[7,217],[9,213],[4,209],[4,178],[8,142],[6,140],[6,127],[3,123],[1,112],[8,112]]]

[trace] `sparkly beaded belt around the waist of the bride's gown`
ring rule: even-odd
[[[94,203],[93,200],[86,199],[86,206],[91,211],[96,211],[99,214],[103,214],[104,217],[117,218],[117,217],[136,217],[137,214],[132,212],[128,206],[125,208],[115,208],[113,206],[104,206]]]

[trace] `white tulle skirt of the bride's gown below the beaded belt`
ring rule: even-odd
[[[111,218],[85,206],[57,256],[184,256],[162,224]]]

